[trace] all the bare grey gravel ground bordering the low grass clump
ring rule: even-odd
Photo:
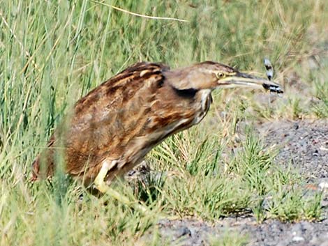
[[[248,245],[328,246],[328,121],[276,121],[259,127],[266,146],[280,151],[276,163],[299,170],[313,190],[324,190],[320,222],[284,223],[254,217],[226,217],[209,224],[197,220],[161,220],[158,233],[169,245],[209,245],[210,238],[246,235]],[[235,233],[235,234],[234,234]],[[146,236],[147,237],[147,236]]]

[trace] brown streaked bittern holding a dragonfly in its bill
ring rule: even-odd
[[[62,144],[65,171],[107,192],[113,178],[135,167],[156,144],[200,123],[211,91],[236,86],[283,93],[279,84],[212,61],[177,70],[137,63],[77,101],[64,134],[55,130],[33,162],[33,179],[53,174],[55,150]]]

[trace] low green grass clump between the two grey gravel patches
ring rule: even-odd
[[[165,208],[181,217],[196,216],[212,221],[251,211],[259,221],[267,218],[317,220],[320,195],[306,197],[306,189],[302,186],[304,180],[299,174],[278,167],[274,161],[276,151],[265,150],[254,136],[253,131],[248,130],[246,139],[226,162],[217,158],[223,147],[214,141],[216,137],[201,141],[196,149],[203,148],[207,157],[200,157],[196,151],[197,162],[191,159],[180,163],[186,167],[197,163],[197,168],[186,168],[179,173],[172,167],[175,169],[172,173],[179,175],[166,180],[163,186]],[[188,142],[186,135],[184,139]],[[204,144],[206,142],[211,144]],[[193,153],[189,154],[193,156]],[[163,151],[163,155],[167,152]]]

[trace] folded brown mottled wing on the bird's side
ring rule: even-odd
[[[164,82],[163,70],[168,69],[158,63],[137,63],[77,101],[66,133],[69,155],[78,153],[75,159],[122,155],[124,145],[141,130],[140,121],[147,121],[147,110]]]

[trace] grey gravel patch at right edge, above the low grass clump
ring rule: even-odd
[[[327,120],[276,121],[264,123],[259,131],[267,146],[280,148],[278,164],[292,164],[308,182],[328,178]]]

